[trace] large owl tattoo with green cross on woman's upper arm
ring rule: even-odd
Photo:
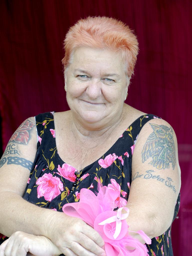
[[[165,125],[151,124],[153,133],[148,137],[143,150],[142,162],[144,163],[149,157],[153,160],[149,164],[157,169],[169,168],[169,163],[172,163],[175,168],[175,144],[173,141],[173,129]]]

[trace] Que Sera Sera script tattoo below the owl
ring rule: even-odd
[[[172,185],[172,178],[170,177],[167,177],[167,180],[161,178],[159,175],[153,175],[155,171],[154,170],[147,170],[146,171],[146,174],[139,174],[138,172],[135,173],[135,175],[133,176],[132,178],[132,181],[137,179],[137,178],[143,178],[143,179],[155,179],[155,180],[158,180],[159,182],[162,182],[165,184],[165,186],[167,186],[168,188],[171,188],[174,193],[176,193],[176,189],[175,189],[175,186]]]

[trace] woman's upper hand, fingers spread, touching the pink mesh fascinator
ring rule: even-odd
[[[56,215],[55,212],[47,225],[45,236],[65,256],[106,255],[102,237],[83,220],[59,212]]]

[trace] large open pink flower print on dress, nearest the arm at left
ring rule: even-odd
[[[62,182],[58,177],[53,177],[51,173],[45,173],[38,178],[36,184],[39,185],[37,187],[37,198],[44,196],[45,200],[49,202],[63,191]]]

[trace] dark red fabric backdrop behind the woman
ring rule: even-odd
[[[81,0],[0,3],[2,149],[26,118],[68,110],[61,59],[69,26],[109,16],[134,29],[140,52],[126,103],[165,119],[178,140],[181,206],[172,226],[175,256],[191,255],[192,118],[189,0]]]

